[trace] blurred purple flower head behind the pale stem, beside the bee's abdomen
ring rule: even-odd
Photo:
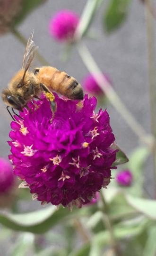
[[[112,83],[106,74],[103,74],[103,76],[110,84]],[[100,96],[104,94],[104,91],[101,90],[92,74],[88,74],[86,77],[84,77],[82,85],[84,90],[90,95]]]

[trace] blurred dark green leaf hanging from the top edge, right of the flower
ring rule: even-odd
[[[110,33],[121,26],[129,11],[130,0],[110,0],[104,13],[104,28]]]

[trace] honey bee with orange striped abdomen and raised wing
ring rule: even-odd
[[[52,66],[36,67],[33,71],[29,70],[38,48],[33,41],[33,34],[34,32],[26,45],[22,69],[11,79],[8,89],[4,89],[1,95],[4,103],[8,105],[7,110],[9,111],[9,107],[12,107],[14,114],[16,114],[14,109],[22,111],[23,108],[28,108],[26,104],[33,98],[40,99],[42,92],[51,93],[53,97],[52,91],[56,91],[71,100],[83,99],[82,86],[66,72]],[[54,113],[56,103],[55,101],[51,103]],[[9,114],[11,115],[10,111]],[[11,117],[13,118],[12,115]]]

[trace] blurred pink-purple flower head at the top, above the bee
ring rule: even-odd
[[[72,41],[78,26],[78,15],[71,10],[57,12],[49,22],[49,33],[58,41]]]

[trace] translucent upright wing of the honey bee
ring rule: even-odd
[[[29,69],[30,64],[34,60],[35,52],[38,48],[38,46],[35,46],[35,43],[33,41],[33,35],[34,35],[34,31],[32,32],[31,36],[27,41],[26,50],[23,57],[22,68],[25,70],[25,72]]]

